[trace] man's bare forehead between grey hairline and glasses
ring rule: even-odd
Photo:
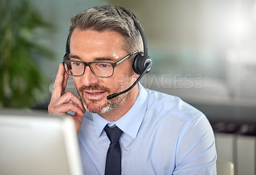
[[[83,59],[102,56],[118,59],[126,54],[124,39],[114,31],[81,31],[76,28],[70,38],[70,54]]]

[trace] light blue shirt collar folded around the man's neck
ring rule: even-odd
[[[148,93],[146,89],[139,85],[139,95],[136,98],[135,103],[132,105],[131,109],[118,121],[109,122],[108,120],[102,118],[99,114],[92,114],[93,124],[95,126],[95,131],[97,137],[100,137],[102,130],[108,124],[109,126],[116,125],[124,133],[127,133],[133,139],[140,129],[141,123],[145,116],[145,112],[148,104]]]

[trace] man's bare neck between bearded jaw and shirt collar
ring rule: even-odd
[[[99,115],[102,116],[102,118],[107,119],[108,121],[117,121],[118,119],[122,118],[122,116],[124,116],[131,109],[132,105],[135,103],[138,97],[138,84],[136,84],[136,86],[134,86],[134,88],[132,88],[127,93],[127,96],[117,107],[115,107],[115,109]]]

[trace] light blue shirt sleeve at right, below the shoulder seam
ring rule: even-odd
[[[214,133],[207,118],[200,116],[184,125],[173,174],[216,174],[216,158]]]

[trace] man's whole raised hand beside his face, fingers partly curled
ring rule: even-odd
[[[65,69],[62,64],[59,66],[59,70],[54,82],[54,88],[52,90],[51,102],[48,106],[49,114],[53,115],[69,115],[67,112],[71,110],[75,112],[72,118],[74,119],[76,125],[76,132],[80,130],[82,119],[85,113],[85,109],[81,100],[71,92],[65,93],[67,86],[68,74],[65,72]],[[72,103],[70,103],[70,101]]]

